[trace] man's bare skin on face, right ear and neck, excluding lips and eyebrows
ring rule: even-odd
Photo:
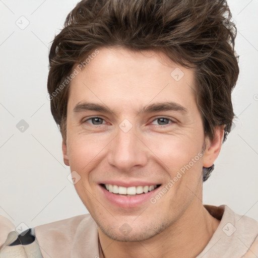
[[[81,176],[75,188],[98,225],[104,257],[196,257],[220,223],[202,203],[202,168],[218,157],[224,126],[216,127],[213,141],[205,137],[193,70],[159,51],[99,51],[71,82],[62,151],[64,163]],[[175,68],[184,73],[179,81],[170,75]],[[115,115],[74,112],[84,101],[104,104]],[[187,112],[137,114],[146,105],[166,101]],[[93,116],[103,120],[95,122]],[[168,120],[157,119],[162,117]],[[133,125],[127,133],[119,128],[124,119]],[[162,189],[198,153],[203,156],[155,204],[117,207],[100,190],[99,182],[108,179],[159,182]],[[124,223],[132,229],[127,235],[119,230]]]

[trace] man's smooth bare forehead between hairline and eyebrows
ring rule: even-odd
[[[152,101],[195,105],[193,70],[161,51],[103,47],[81,68],[82,64],[74,66],[78,74],[70,84],[68,108],[83,101],[126,110]]]

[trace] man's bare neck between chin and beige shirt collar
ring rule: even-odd
[[[98,233],[104,258],[196,257],[208,244],[219,223],[197,197],[176,222],[147,240],[121,242],[110,239],[100,228]]]

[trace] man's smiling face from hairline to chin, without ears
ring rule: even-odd
[[[192,70],[160,52],[115,47],[100,48],[72,80],[64,162],[80,175],[78,195],[110,238],[148,239],[202,205],[195,197],[202,198],[205,138],[193,82]],[[125,196],[104,184],[122,193],[159,187]]]

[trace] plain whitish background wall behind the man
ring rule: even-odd
[[[62,161],[46,86],[50,43],[77,2],[0,1],[0,214],[15,226],[88,213]],[[240,75],[232,95],[238,119],[204,183],[204,204],[227,204],[258,220],[258,1],[228,4],[238,28]],[[22,119],[24,132],[17,128]]]

